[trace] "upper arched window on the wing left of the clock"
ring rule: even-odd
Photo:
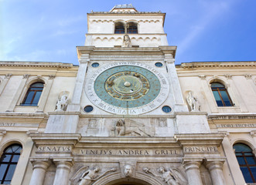
[[[43,92],[43,82],[35,82],[26,93],[22,106],[37,106],[40,96]]]

